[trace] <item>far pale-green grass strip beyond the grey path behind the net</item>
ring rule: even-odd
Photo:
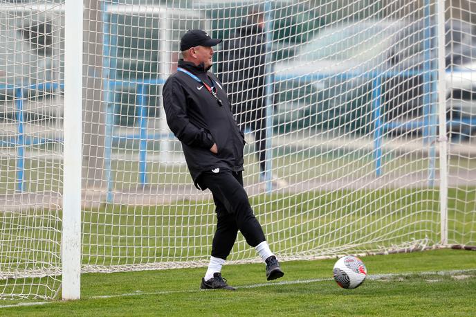
[[[244,183],[252,184],[259,181],[259,164],[248,145],[245,155]],[[320,147],[301,149],[300,147],[279,147],[273,152],[275,174],[289,183],[302,181],[331,181],[351,176],[353,179],[373,175],[375,161],[373,152],[367,150],[323,150]],[[122,153],[122,152],[121,152]],[[152,152],[151,152],[152,154]],[[15,192],[16,165],[15,159],[0,159],[0,194]],[[423,179],[428,174],[430,161],[428,157],[401,156],[393,152],[385,152],[382,161],[382,176],[392,178],[403,175],[419,175]],[[438,160],[435,163],[439,165]],[[474,170],[476,160],[452,156],[448,161],[450,175],[458,172]],[[139,163],[125,159],[111,161],[111,178],[115,190],[136,189],[139,184]],[[190,174],[185,165],[166,165],[157,161],[147,163],[147,183],[152,186],[170,186],[190,184]],[[27,192],[53,191],[60,192],[62,186],[62,163],[39,159],[25,159],[24,186]]]

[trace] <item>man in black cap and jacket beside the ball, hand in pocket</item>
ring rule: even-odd
[[[188,30],[181,38],[183,60],[163,87],[167,124],[181,141],[185,161],[197,188],[209,188],[217,212],[217,229],[212,242],[210,264],[201,289],[230,289],[221,277],[221,266],[235,244],[238,230],[266,262],[267,280],[284,272],[271,252],[243,187],[244,134],[233,118],[226,91],[208,72],[212,39],[203,30]]]

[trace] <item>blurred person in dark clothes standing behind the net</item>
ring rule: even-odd
[[[266,181],[266,37],[264,14],[259,6],[223,44],[221,71],[239,127],[250,129],[255,136],[259,179]],[[287,185],[283,179],[269,176],[273,185]]]

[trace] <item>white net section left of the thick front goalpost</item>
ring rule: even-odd
[[[60,287],[63,12],[0,1],[0,298]]]

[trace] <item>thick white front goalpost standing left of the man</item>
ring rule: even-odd
[[[66,0],[64,26],[64,159],[62,299],[80,298],[83,3]]]

